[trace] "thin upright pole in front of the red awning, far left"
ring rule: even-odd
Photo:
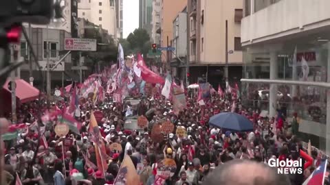
[[[15,63],[14,58],[14,45],[10,46],[10,62]],[[10,90],[12,92],[12,123],[15,124],[17,122],[16,116],[16,82],[15,82],[15,71],[10,73]],[[9,85],[9,84],[8,84]]]

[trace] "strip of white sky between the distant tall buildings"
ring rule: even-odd
[[[123,0],[123,37],[139,27],[139,0]]]

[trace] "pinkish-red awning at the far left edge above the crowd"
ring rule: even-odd
[[[11,93],[9,90],[10,80],[7,79],[5,84],[3,85],[3,89]],[[32,101],[34,99],[38,99],[39,97],[39,90],[34,86],[31,86],[28,82],[25,82],[23,79],[16,79],[16,97],[19,99],[21,103],[26,103],[28,101]]]

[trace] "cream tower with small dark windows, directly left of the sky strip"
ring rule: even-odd
[[[117,38],[117,19],[115,0],[80,0],[78,2],[78,17],[106,29],[109,35]]]

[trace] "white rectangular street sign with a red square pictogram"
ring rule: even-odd
[[[96,39],[65,38],[64,49],[71,51],[96,51]]]

